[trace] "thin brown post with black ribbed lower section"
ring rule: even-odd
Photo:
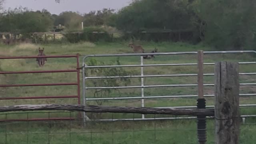
[[[202,50],[198,51],[198,99],[197,99],[197,108],[205,109],[206,100],[204,99],[204,72],[203,72],[203,60],[204,52]],[[206,143],[206,116],[201,115],[197,116],[197,134],[199,144]]]

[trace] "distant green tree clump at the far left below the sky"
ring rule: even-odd
[[[8,10],[0,17],[0,32],[10,32],[12,37],[6,35],[8,40],[16,40],[18,34],[22,38],[32,38],[32,32],[48,32],[53,21],[45,12],[33,12],[26,8]]]

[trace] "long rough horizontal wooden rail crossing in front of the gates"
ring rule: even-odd
[[[177,109],[177,108],[142,108],[142,107],[117,107],[117,106],[82,106],[82,105],[17,105],[0,106],[0,112],[33,111],[33,110],[68,110],[95,113],[133,113],[133,114],[166,114],[187,116],[214,116],[214,109]]]

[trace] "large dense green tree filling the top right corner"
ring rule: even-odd
[[[254,0],[198,0],[204,20],[205,40],[221,50],[254,48],[256,2]]]

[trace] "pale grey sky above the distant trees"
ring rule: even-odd
[[[32,10],[47,9],[52,14],[60,14],[64,11],[74,11],[87,13],[91,10],[101,10],[102,8],[120,8],[129,5],[131,0],[61,0],[58,4],[55,0],[6,0],[4,9],[26,7]]]

